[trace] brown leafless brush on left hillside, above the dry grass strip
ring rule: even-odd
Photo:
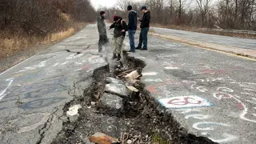
[[[74,22],[94,22],[90,0],[0,0],[0,32],[46,36]]]

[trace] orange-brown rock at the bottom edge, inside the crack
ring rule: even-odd
[[[98,144],[112,144],[119,143],[117,139],[110,137],[109,135],[97,132],[96,134],[90,136],[90,142]]]

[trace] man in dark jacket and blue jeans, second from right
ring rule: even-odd
[[[135,52],[135,42],[134,42],[134,34],[137,30],[137,13],[136,11],[132,10],[132,6],[128,6],[127,10],[129,11],[128,14],[128,34],[130,40],[130,51]]]

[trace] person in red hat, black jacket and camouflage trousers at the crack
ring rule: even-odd
[[[114,23],[110,26],[110,29],[114,28],[114,38],[113,38],[113,59],[117,58],[119,61],[121,59],[121,51],[123,40],[126,36],[127,24],[122,20],[122,17],[115,16]],[[118,55],[117,55],[118,54]]]

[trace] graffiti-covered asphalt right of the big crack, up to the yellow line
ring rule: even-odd
[[[255,60],[154,36],[148,50],[129,56],[146,62],[146,89],[188,133],[220,143],[256,142]]]

